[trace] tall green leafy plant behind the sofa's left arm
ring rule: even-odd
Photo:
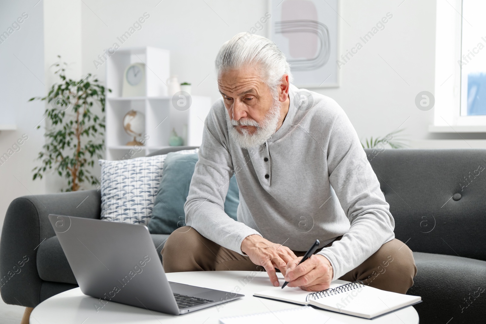
[[[102,157],[105,88],[91,73],[81,80],[67,78],[65,72],[68,64],[60,62],[61,56],[57,57],[59,62],[52,67],[57,68],[54,74],[61,82],[53,84],[47,96],[29,100],[50,103],[44,112],[46,144],[38,154],[41,165],[32,170],[33,179],[41,179],[53,169],[67,179],[67,188],[61,191],[77,191],[82,183],[93,186],[99,183],[88,167],[93,167],[95,158]],[[108,91],[111,92],[110,89]],[[93,113],[94,105],[101,107],[101,117]]]

